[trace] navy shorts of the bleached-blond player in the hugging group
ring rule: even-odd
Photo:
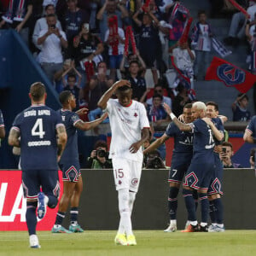
[[[214,163],[192,162],[186,173],[183,185],[196,190],[208,189],[213,172]]]

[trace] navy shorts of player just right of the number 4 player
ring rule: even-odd
[[[79,181],[80,165],[79,162],[70,163],[62,163],[60,164],[62,171],[62,180],[76,183]]]

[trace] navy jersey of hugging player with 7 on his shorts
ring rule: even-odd
[[[193,155],[193,133],[180,131],[172,122],[166,128],[166,136],[174,138],[172,164],[190,162]]]

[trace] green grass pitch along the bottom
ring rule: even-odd
[[[28,247],[25,231],[0,232],[0,255],[156,255],[236,256],[256,255],[256,230],[227,230],[224,233],[164,233],[135,230],[137,246],[113,243],[116,231],[84,231],[82,234],[52,234],[38,231],[40,249]]]

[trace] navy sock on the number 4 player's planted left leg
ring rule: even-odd
[[[37,207],[37,201],[26,201],[26,226],[29,236],[36,234],[36,227],[38,223],[36,215]]]

